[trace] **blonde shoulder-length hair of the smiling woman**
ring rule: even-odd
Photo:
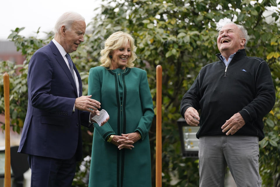
[[[111,34],[105,41],[105,46],[104,49],[100,51],[101,58],[101,66],[107,67],[111,69],[112,67],[112,60],[109,57],[109,55],[117,49],[120,49],[121,47],[125,46],[127,44],[127,41],[130,44],[130,49],[131,49],[131,56],[128,59],[127,64],[125,67],[130,67],[132,68],[134,66],[133,61],[137,58],[135,52],[134,52],[134,39],[130,34],[127,34],[122,31],[115,32]]]

